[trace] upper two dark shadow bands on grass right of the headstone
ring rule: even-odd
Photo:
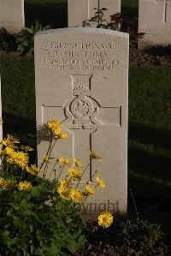
[[[171,132],[143,124],[129,124],[128,168],[139,175],[149,175],[171,182]],[[138,144],[133,142],[138,141]],[[150,147],[152,145],[152,148]]]

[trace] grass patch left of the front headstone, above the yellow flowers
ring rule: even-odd
[[[3,136],[14,133],[21,142],[36,146],[34,67],[32,60],[0,57]],[[36,161],[36,156],[32,156]]]

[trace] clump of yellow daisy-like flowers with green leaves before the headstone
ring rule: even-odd
[[[0,255],[68,255],[85,244],[86,224],[80,207],[95,193],[97,186],[104,188],[105,185],[96,177],[96,186],[92,187],[87,181],[80,188],[89,164],[81,170],[83,164],[78,158],[73,163],[68,158],[57,158],[52,164],[50,154],[56,141],[68,140],[68,134],[56,120],[48,122],[44,128],[50,146],[39,167],[30,164],[28,152],[32,152],[32,147],[20,145],[10,134],[1,141]],[[92,151],[90,158],[101,159]],[[64,168],[68,168],[68,175],[60,181]],[[42,177],[38,176],[40,172]],[[51,176],[55,178],[50,181]],[[99,224],[107,228],[113,220],[111,214],[109,217]]]

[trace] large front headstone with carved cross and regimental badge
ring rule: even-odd
[[[95,170],[106,189],[97,188],[84,212],[127,211],[128,35],[97,28],[65,28],[35,36],[38,164],[49,146],[45,122],[58,119],[69,135],[59,140],[52,158],[91,161],[84,180]]]

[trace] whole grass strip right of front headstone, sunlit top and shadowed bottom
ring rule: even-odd
[[[142,217],[162,222],[167,232],[171,228],[170,84],[171,68],[130,69],[129,187]],[[129,205],[133,206],[131,198]]]

